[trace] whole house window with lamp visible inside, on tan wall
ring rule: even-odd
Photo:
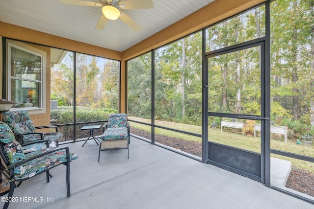
[[[46,52],[21,42],[13,43],[7,44],[8,99],[19,103],[13,108],[43,109]]]

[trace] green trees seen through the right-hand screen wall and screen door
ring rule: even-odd
[[[310,3],[276,0],[271,6],[272,124],[284,125],[284,117],[298,121],[300,116],[302,123],[310,124],[310,100],[314,97],[310,85],[313,76],[309,76],[314,70],[309,65],[309,26],[313,24]],[[264,35],[265,7],[261,6],[206,29],[206,51]],[[151,52],[129,61],[129,114],[151,117],[154,82],[155,119],[201,125],[201,43],[201,33],[196,33],[155,50],[154,81],[151,80]],[[261,114],[261,50],[252,47],[209,58],[210,112]],[[296,126],[291,130],[294,134],[300,133]]]

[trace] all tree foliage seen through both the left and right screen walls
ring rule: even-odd
[[[313,0],[271,2],[271,122],[288,126],[290,137],[300,136],[307,126],[314,124],[312,10]],[[205,51],[213,54],[207,60],[208,111],[261,115],[261,78],[263,70],[268,70],[262,68],[263,47],[254,46],[217,56],[214,52],[264,37],[265,6],[215,24],[205,29],[205,35]],[[202,97],[207,96],[202,95],[202,38],[201,32],[191,34],[128,61],[129,116],[202,124]],[[152,56],[155,57],[154,66]],[[78,54],[77,95],[72,95],[73,66],[68,64],[71,59],[73,54],[68,53],[59,68],[52,70],[55,76],[52,98],[60,100],[59,105],[73,105],[73,96],[76,96],[78,106],[118,109],[117,62],[106,61],[100,66],[101,58]],[[152,111],[155,118],[151,118]],[[86,114],[78,113],[78,118],[87,120]],[[212,122],[219,124],[220,118],[217,121],[209,118],[209,124]]]

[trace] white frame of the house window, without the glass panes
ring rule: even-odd
[[[21,79],[21,78],[11,76],[10,60],[11,60],[11,48],[12,47],[41,57],[41,80],[40,81]],[[38,102],[39,107],[18,107],[18,108],[12,107],[11,110],[28,110],[29,114],[46,113],[47,87],[44,84],[44,81],[47,80],[47,53],[45,51],[26,45],[25,43],[22,43],[19,41],[7,40],[7,95],[8,95],[7,97],[9,101],[11,101],[11,79],[32,81],[32,82],[36,82],[40,84],[40,92],[39,92],[40,101]]]

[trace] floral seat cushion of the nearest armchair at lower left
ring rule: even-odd
[[[26,159],[36,156],[38,154],[48,152],[52,150],[53,148],[46,148],[43,150],[37,150],[34,152],[27,153]],[[74,161],[78,159],[77,154],[70,153],[70,161]],[[55,152],[52,152],[50,154],[44,155],[43,157],[36,158],[32,161],[29,161],[27,163],[21,164],[20,166],[16,167],[14,169],[14,174],[16,176],[17,180],[30,178],[34,174],[43,172],[47,169],[50,169],[58,164],[66,163],[67,162],[67,156],[65,150],[57,150]]]

